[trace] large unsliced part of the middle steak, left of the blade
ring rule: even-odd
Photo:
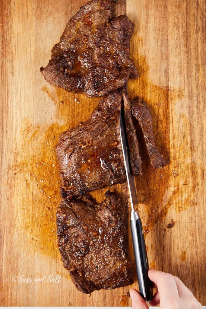
[[[60,136],[57,155],[63,197],[72,199],[126,181],[119,128],[121,102],[121,93],[110,93],[87,121]]]

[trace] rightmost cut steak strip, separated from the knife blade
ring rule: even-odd
[[[142,130],[151,166],[161,167],[166,165],[166,161],[155,145],[151,112],[141,97],[132,100],[132,115],[137,119]]]

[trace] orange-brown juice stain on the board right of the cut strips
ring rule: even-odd
[[[141,38],[138,38],[141,41]],[[185,194],[185,186],[174,187],[171,177],[177,177],[178,163],[175,156],[171,157],[172,151],[170,145],[170,101],[184,97],[184,91],[181,88],[159,87],[152,83],[149,78],[149,66],[145,57],[138,55],[136,63],[139,77],[132,78],[128,82],[128,92],[132,97],[140,95],[148,104],[153,117],[153,131],[158,150],[167,161],[165,167],[153,169],[146,166],[142,176],[136,176],[136,187],[138,199],[140,202],[140,214],[143,221],[145,236],[159,221],[165,221],[170,207],[175,207],[176,213],[183,211],[183,203],[189,197]],[[144,159],[143,159],[144,165]],[[173,167],[174,166],[174,167]],[[187,179],[185,179],[185,185]],[[178,200],[178,197],[182,199]],[[165,222],[164,225],[167,223]]]

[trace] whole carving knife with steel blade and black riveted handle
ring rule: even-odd
[[[132,232],[132,242],[137,269],[137,279],[139,283],[140,295],[145,299],[145,301],[149,302],[153,296],[152,282],[149,280],[148,277],[149,263],[147,258],[142,222],[139,213],[134,210],[134,206],[138,204],[138,200],[134,177],[132,176],[131,165],[129,161],[128,140],[124,121],[123,107],[120,110],[120,137],[131,202],[130,227]]]

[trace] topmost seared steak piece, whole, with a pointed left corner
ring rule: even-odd
[[[137,77],[129,58],[134,24],[125,15],[111,19],[114,2],[93,0],[69,20],[48,65],[40,68],[49,83],[95,97]]]

